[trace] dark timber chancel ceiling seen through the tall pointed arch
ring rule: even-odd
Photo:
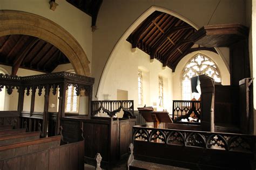
[[[132,48],[138,47],[150,55],[150,59],[158,59],[174,72],[179,61],[188,53],[199,50],[217,53],[212,47],[193,43],[190,37],[196,31],[177,17],[154,11],[126,40]]]

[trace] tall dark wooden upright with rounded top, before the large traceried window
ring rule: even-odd
[[[201,128],[214,131],[214,80],[206,75],[199,76],[201,87]]]

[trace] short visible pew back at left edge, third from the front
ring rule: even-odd
[[[28,140],[35,140],[40,138],[40,132],[25,132],[19,134],[10,134],[0,137],[0,145],[14,144]]]

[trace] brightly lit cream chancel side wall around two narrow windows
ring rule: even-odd
[[[128,91],[128,99],[134,100],[134,109],[138,107],[138,69],[143,72],[143,106],[159,104],[158,76],[164,78],[164,108],[171,111],[172,100],[172,70],[163,70],[158,60],[150,63],[150,57],[145,52],[137,49],[131,52],[131,44],[123,42],[117,51],[117,56],[107,72],[103,89],[100,90],[99,100],[103,100],[103,94],[110,94],[110,100],[117,99],[117,90]],[[140,106],[141,107],[141,106]],[[158,108],[163,110],[163,108]]]

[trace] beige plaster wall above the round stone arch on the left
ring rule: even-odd
[[[17,10],[34,13],[50,19],[68,31],[83,47],[87,58],[92,61],[91,17],[64,0],[55,11],[50,10],[49,0],[1,0],[0,10]],[[90,70],[91,70],[91,64]]]

